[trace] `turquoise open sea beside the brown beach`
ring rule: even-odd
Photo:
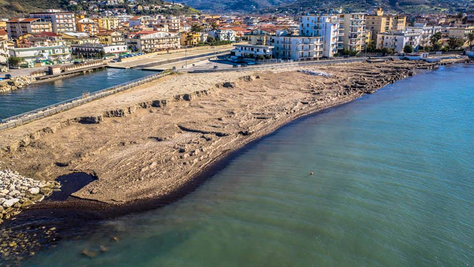
[[[97,224],[23,264],[473,266],[474,67],[298,120],[183,199]]]

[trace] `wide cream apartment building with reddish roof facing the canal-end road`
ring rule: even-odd
[[[180,46],[178,34],[158,31],[145,31],[130,34],[125,45],[132,51],[155,52],[177,49]]]

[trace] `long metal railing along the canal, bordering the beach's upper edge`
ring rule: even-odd
[[[49,106],[46,106],[46,107],[42,107],[42,108],[39,108],[39,109],[35,109],[35,110],[29,111],[29,112],[25,112],[25,113],[22,113],[22,114],[13,116],[13,117],[3,119],[3,120],[1,120],[0,131],[8,129],[8,128],[13,128],[13,127],[16,127],[16,126],[20,126],[20,125],[23,125],[25,123],[29,123],[29,122],[32,122],[34,120],[56,114],[58,112],[68,110],[68,109],[73,108],[73,107],[77,107],[77,106],[79,106],[83,103],[87,103],[87,102],[90,102],[92,100],[103,98],[103,97],[106,97],[108,95],[111,95],[111,94],[114,94],[114,93],[117,93],[117,92],[120,92],[120,91],[124,91],[126,89],[130,89],[130,88],[133,88],[133,87],[151,82],[153,80],[165,77],[165,76],[173,74],[173,73],[176,73],[176,70],[165,70],[165,71],[162,71],[162,72],[157,73],[157,74],[152,74],[152,75],[149,75],[149,76],[146,76],[146,77],[143,77],[143,78],[140,78],[140,79],[136,79],[136,80],[133,80],[133,81],[130,81],[130,82],[126,82],[126,83],[119,84],[119,85],[116,85],[116,86],[113,86],[113,87],[109,87],[109,88],[106,88],[106,89],[95,91],[95,92],[90,93],[86,96],[78,96],[78,97],[68,99],[68,100],[53,104],[53,105],[49,105]]]

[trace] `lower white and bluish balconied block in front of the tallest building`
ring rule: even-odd
[[[278,31],[276,36],[270,37],[270,44],[274,46],[274,58],[301,61],[322,57],[322,37],[293,36],[286,31]]]

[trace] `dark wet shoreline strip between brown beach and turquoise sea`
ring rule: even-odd
[[[433,66],[437,66],[439,64],[425,64],[423,67],[428,66],[429,69]],[[320,67],[318,67],[320,68]],[[421,68],[424,69],[424,68]],[[400,74],[398,74],[400,75]],[[404,76],[403,76],[404,75]],[[203,164],[197,168],[193,173],[189,173],[188,178],[184,183],[181,183],[175,190],[171,190],[167,192],[167,194],[161,196],[152,196],[152,197],[138,197],[129,201],[124,201],[122,203],[114,204],[111,202],[104,202],[100,200],[94,200],[90,198],[83,198],[81,195],[73,194],[73,197],[64,202],[42,202],[36,204],[30,208],[30,210],[49,210],[49,209],[67,209],[67,210],[78,210],[78,211],[90,211],[94,213],[94,211],[101,211],[104,215],[104,211],[106,214],[105,217],[114,217],[120,216],[122,214],[133,213],[133,212],[140,212],[143,210],[153,209],[159,206],[164,206],[169,203],[172,203],[178,199],[181,199],[188,193],[194,191],[198,186],[200,186],[207,178],[212,176],[216,171],[221,170],[232,160],[232,158],[238,156],[242,150],[246,149],[246,147],[258,142],[262,138],[274,134],[276,130],[285,127],[290,123],[297,122],[300,119],[309,116],[316,116],[319,113],[326,112],[332,108],[336,108],[337,106],[343,105],[345,103],[351,102],[366,93],[373,93],[376,90],[382,89],[388,84],[392,84],[397,80],[401,80],[406,78],[407,76],[412,76],[414,73],[411,71],[406,71],[397,79],[392,81],[388,81],[383,84],[381,87],[378,88],[371,88],[369,90],[364,89],[364,91],[359,92],[357,94],[351,94],[347,96],[341,96],[337,100],[327,103],[328,105],[325,106],[313,106],[307,109],[301,109],[297,112],[294,112],[293,115],[287,116],[283,118],[283,120],[269,125],[264,130],[260,129],[261,132],[259,133],[252,133],[250,134],[251,137],[247,138],[241,142],[237,142],[234,146],[230,147],[229,149],[220,151],[220,153],[211,158],[207,161],[206,164]],[[252,81],[245,81],[243,83],[252,83]],[[225,86],[225,85],[224,85]],[[199,98],[198,98],[199,99]],[[193,102],[193,101],[191,101]],[[247,134],[248,135],[248,134]],[[81,172],[78,170],[77,172]],[[95,174],[94,171],[85,172],[89,174]],[[100,175],[98,176],[100,178]],[[92,190],[94,190],[92,188]],[[83,191],[83,190],[79,190]],[[92,192],[92,191],[90,191]]]

